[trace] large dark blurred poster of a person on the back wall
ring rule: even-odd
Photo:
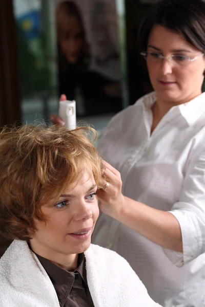
[[[77,116],[121,110],[115,0],[56,0],[59,94]]]

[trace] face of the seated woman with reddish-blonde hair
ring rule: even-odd
[[[33,250],[44,257],[86,251],[91,243],[97,217],[96,183],[92,171],[85,170],[77,184],[68,187],[56,203],[42,207],[47,223],[37,222],[31,239]]]

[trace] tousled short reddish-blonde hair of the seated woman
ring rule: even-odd
[[[0,235],[28,240],[35,221],[46,222],[41,206],[57,201],[66,187],[92,169],[100,188],[104,167],[88,127],[24,125],[0,133]],[[96,133],[95,133],[96,134]]]

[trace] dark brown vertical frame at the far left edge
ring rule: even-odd
[[[16,40],[13,2],[0,1],[0,127],[21,118]]]

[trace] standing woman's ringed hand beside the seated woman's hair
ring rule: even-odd
[[[105,177],[109,186],[98,190],[98,199],[100,202],[100,209],[104,213],[117,218],[124,207],[125,199],[121,193],[121,176],[118,170],[112,167],[109,163],[103,161],[105,169]],[[103,183],[106,186],[106,181]]]

